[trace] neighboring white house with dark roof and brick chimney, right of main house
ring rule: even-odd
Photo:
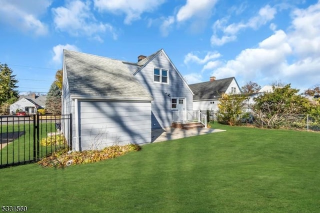
[[[240,87],[234,77],[216,80],[214,76],[209,81],[189,84],[194,93],[193,110],[213,110],[218,109],[218,98],[222,93],[239,94]]]

